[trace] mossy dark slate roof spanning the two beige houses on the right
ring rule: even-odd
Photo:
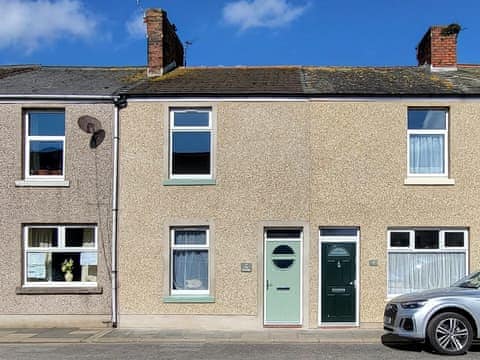
[[[136,96],[471,96],[480,67],[192,67],[133,86]]]

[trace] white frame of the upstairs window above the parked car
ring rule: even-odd
[[[445,111],[445,129],[409,129],[408,128],[408,113],[410,110],[442,110]],[[416,107],[409,107],[407,110],[407,177],[410,178],[425,178],[425,177],[435,177],[435,178],[448,178],[448,128],[449,128],[449,109],[448,108],[416,108]],[[410,137],[411,135],[443,135],[443,173],[412,173],[410,171]]]

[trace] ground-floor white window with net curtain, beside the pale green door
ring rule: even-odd
[[[170,248],[171,295],[208,295],[208,227],[172,228]]]

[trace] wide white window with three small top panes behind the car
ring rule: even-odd
[[[387,294],[447,287],[468,272],[468,230],[389,229]]]

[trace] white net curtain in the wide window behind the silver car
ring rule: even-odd
[[[389,253],[388,294],[446,287],[465,276],[465,253]]]

